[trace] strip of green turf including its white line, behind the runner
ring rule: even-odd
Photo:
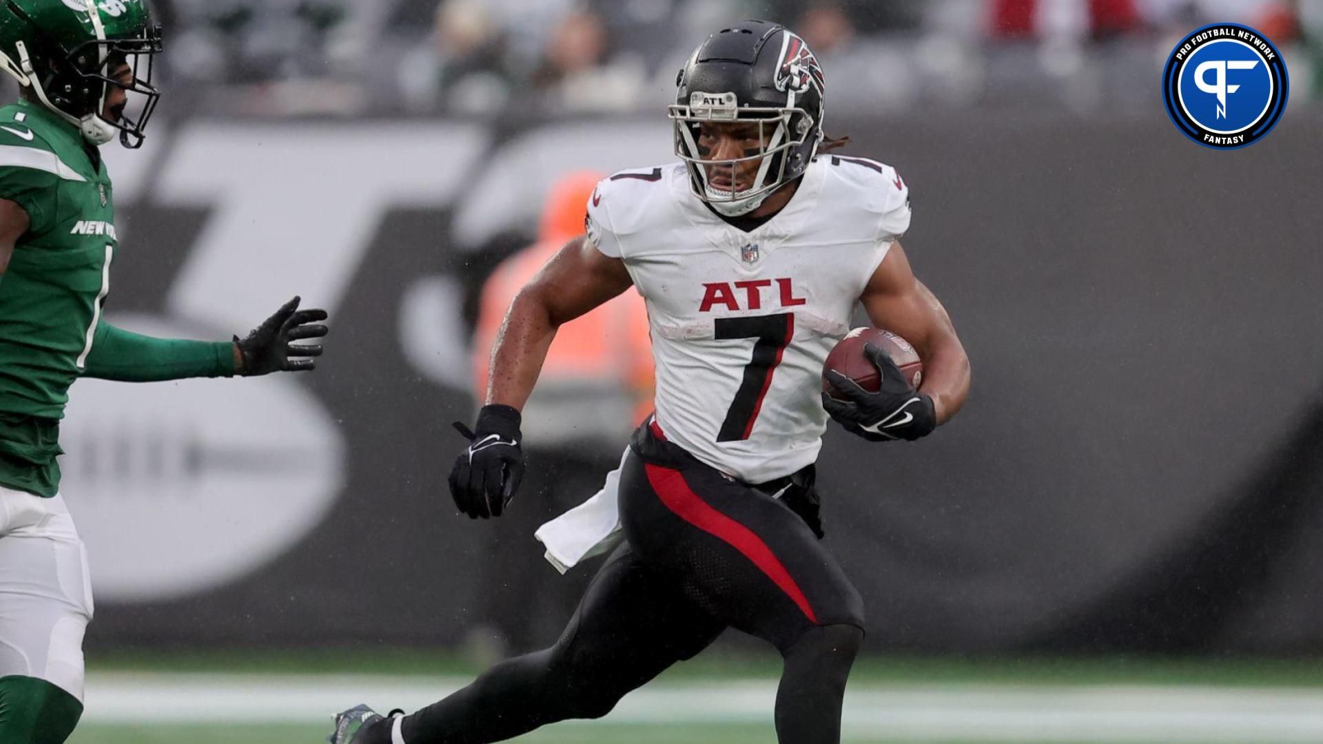
[[[601,721],[524,744],[774,743],[777,658],[714,651],[627,696]],[[414,708],[476,671],[418,650],[90,654],[73,744],[321,741],[360,702]],[[1319,659],[860,659],[844,712],[853,744],[1304,744],[1323,741]]]

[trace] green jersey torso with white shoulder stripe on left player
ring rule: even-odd
[[[58,421],[110,291],[114,192],[77,127],[20,102],[0,109],[0,199],[32,221],[0,277],[0,486],[50,495]]]

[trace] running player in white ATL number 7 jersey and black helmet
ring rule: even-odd
[[[648,306],[656,413],[630,443],[615,498],[602,500],[618,504],[623,541],[554,646],[409,716],[351,708],[333,744],[478,744],[598,718],[725,628],[785,659],[782,744],[840,740],[864,608],[815,535],[812,469],[828,412],[869,440],[923,437],[963,405],[970,364],[900,246],[905,183],[873,160],[818,154],[823,77],[802,38],[734,24],[699,46],[677,82],[681,162],[603,180],[586,236],[513,301],[487,405],[450,478],[468,516],[500,515],[524,467],[520,408],[557,327],[632,283]],[[837,379],[849,400],[819,397],[823,361],[860,301],[918,348],[922,389],[869,348],[878,392]]]

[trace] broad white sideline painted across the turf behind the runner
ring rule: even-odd
[[[93,673],[87,723],[327,723],[366,702],[417,710],[458,676]],[[676,682],[639,690],[611,723],[770,723],[767,679]],[[851,737],[967,741],[1323,741],[1323,690],[1143,686],[856,686]]]

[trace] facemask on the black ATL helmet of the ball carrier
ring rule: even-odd
[[[740,106],[734,93],[695,91],[688,105],[676,103],[667,111],[675,124],[676,155],[689,171],[693,193],[728,217],[753,212],[781,188],[786,181],[789,151],[803,146],[808,132],[816,131],[804,109]],[[710,152],[699,144],[704,123],[757,123],[758,150],[733,159],[709,158]],[[741,165],[750,162],[758,162],[753,181],[746,188],[737,188]],[[730,188],[713,184],[722,177]]]

